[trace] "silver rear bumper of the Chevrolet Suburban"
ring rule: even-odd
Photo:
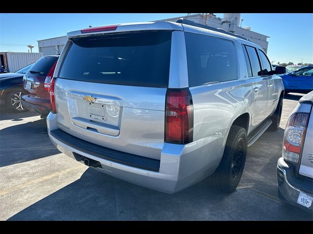
[[[112,157],[111,149],[97,146],[88,150],[86,145],[80,144],[81,140],[77,140],[75,143],[72,141],[74,138],[66,141],[67,137],[58,137],[53,130],[62,130],[62,127],[58,125],[56,117],[57,115],[51,112],[47,116],[48,135],[61,152],[82,163],[84,163],[82,161],[84,157],[91,161],[95,160],[101,166],[93,168],[99,171],[164,193],[179,192],[211,175],[219,165],[224,151],[221,147],[224,143],[223,136],[204,137],[199,142],[195,141],[187,145],[164,143],[158,170],[151,165],[140,168],[134,164],[116,160]],[[60,131],[57,132],[62,134],[63,131]],[[101,149],[99,151],[96,149],[98,147],[104,148],[101,155],[99,155]],[[104,155],[105,152],[107,152],[107,156]],[[123,152],[120,153],[123,154]],[[112,158],[110,159],[110,157]],[[151,158],[144,159],[144,163],[149,164],[149,160]],[[157,162],[155,163],[157,165]]]

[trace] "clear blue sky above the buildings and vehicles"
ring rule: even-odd
[[[215,13],[223,18],[222,13]],[[171,14],[0,14],[0,51],[28,52],[37,40],[66,35],[67,31],[114,23],[152,21],[187,15]],[[313,63],[313,14],[242,13],[242,26],[269,36],[268,57],[271,61]],[[276,63],[274,62],[274,63]]]

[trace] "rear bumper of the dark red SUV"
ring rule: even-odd
[[[42,116],[47,116],[51,111],[50,99],[48,98],[38,98],[24,95],[22,96],[21,102],[24,107]]]

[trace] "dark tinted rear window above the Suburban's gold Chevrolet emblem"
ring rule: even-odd
[[[156,31],[73,39],[59,78],[167,87],[171,36],[171,31]]]

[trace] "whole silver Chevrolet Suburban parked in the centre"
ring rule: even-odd
[[[247,147],[278,129],[284,85],[262,48],[190,20],[67,34],[48,134],[64,154],[165,193],[233,192]],[[264,149],[266,150],[266,149]]]

